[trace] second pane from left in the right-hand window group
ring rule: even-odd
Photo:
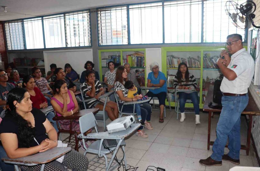
[[[162,43],[162,2],[129,5],[131,44]]]

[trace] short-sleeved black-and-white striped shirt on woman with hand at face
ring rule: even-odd
[[[87,99],[91,99],[92,97],[88,96],[87,95],[87,92],[91,91],[91,88],[92,86],[91,85],[88,85],[86,82],[83,83],[82,87],[81,87],[81,90],[83,92],[83,95],[84,95],[84,98],[87,100]],[[100,89],[102,89],[102,85],[100,84],[100,82],[96,79],[95,80],[95,89],[96,89],[96,92],[95,92],[95,95],[99,93]],[[91,108],[93,107],[93,105],[96,103],[96,102],[99,102],[97,99],[94,99],[94,100],[91,100],[91,101],[88,101],[86,102],[87,105],[88,105],[88,108]]]

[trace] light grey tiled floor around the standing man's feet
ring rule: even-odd
[[[176,113],[167,109],[164,123],[159,123],[159,111],[154,111],[151,117],[153,130],[145,129],[149,135],[148,138],[140,138],[132,134],[126,142],[127,164],[139,167],[137,171],[145,171],[147,166],[155,166],[166,169],[167,171],[228,171],[234,166],[258,166],[254,157],[254,151],[251,147],[249,156],[246,156],[245,150],[240,151],[240,165],[234,165],[230,162],[222,161],[222,166],[206,167],[199,164],[199,159],[205,159],[212,154],[212,146],[207,150],[207,129],[208,115],[200,113],[200,125],[195,125],[195,115],[186,114],[184,122],[176,120]],[[216,138],[216,125],[219,115],[214,115],[211,122],[211,137]],[[108,121],[110,122],[110,121]],[[101,123],[99,130],[102,130]],[[246,143],[247,126],[244,118],[241,122],[241,143]],[[83,150],[80,148],[80,152]],[[225,148],[225,153],[228,149]],[[119,151],[118,158],[122,158]],[[93,155],[87,154],[91,159]],[[120,169],[122,170],[122,169]]]

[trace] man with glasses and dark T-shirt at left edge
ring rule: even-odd
[[[13,89],[15,86],[10,84],[8,81],[7,73],[0,69],[0,105],[6,105],[7,93]],[[3,118],[5,116],[3,107],[0,107],[0,117]]]

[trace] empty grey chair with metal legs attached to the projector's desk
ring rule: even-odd
[[[103,163],[101,163],[102,162],[101,158],[104,157],[106,168],[104,168],[104,167],[102,167],[102,168],[108,170],[109,169],[108,166],[110,166],[112,164],[113,160],[110,159],[110,160],[112,160],[112,162],[109,163],[110,165],[108,165],[108,157],[106,155],[109,155],[110,151],[117,153],[117,151],[115,151],[115,150],[118,150],[118,148],[116,149],[116,147],[110,147],[110,150],[108,150],[108,149],[104,148],[102,143],[103,143],[104,139],[115,139],[115,137],[112,137],[112,136],[111,136],[111,138],[95,137],[96,139],[100,139],[100,140],[96,140],[94,143],[90,144],[89,147],[86,147],[85,139],[87,139],[87,136],[85,136],[84,133],[87,132],[89,129],[93,128],[93,127],[95,128],[96,133],[99,133],[97,121],[96,121],[93,113],[88,113],[84,116],[81,116],[80,119],[79,119],[79,122],[80,122],[80,134],[78,135],[78,138],[82,138],[83,146],[84,146],[84,149],[85,149],[84,155],[86,155],[87,153],[97,154],[94,158],[92,158],[89,161],[89,169],[91,169],[91,168],[94,169],[93,167],[101,168],[100,165],[104,165]],[[109,133],[104,132],[104,135],[109,135]],[[117,140],[117,143],[122,147],[122,150],[124,152],[124,159],[122,159],[122,160],[124,160],[125,166],[126,166],[126,155],[125,155],[125,150],[124,150],[125,142],[124,142],[123,139],[120,139],[120,140]],[[95,161],[95,159],[97,161]],[[119,162],[121,162],[121,161],[119,161]],[[93,162],[94,162],[94,164],[91,164]],[[96,165],[96,163],[98,163],[98,165]],[[118,163],[116,162],[116,163],[114,163],[114,165],[112,167],[115,168],[117,166],[118,166]],[[110,169],[110,170],[113,170],[113,169]]]

